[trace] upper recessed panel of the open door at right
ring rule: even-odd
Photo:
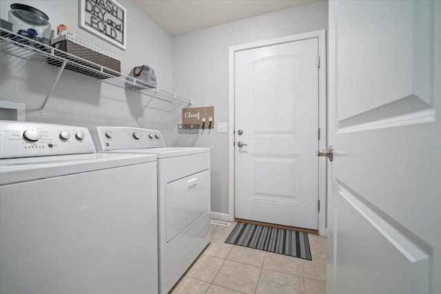
[[[402,2],[384,1],[381,8],[369,1],[340,5],[336,74],[351,83],[338,87],[338,120],[407,97],[433,103],[430,1]]]

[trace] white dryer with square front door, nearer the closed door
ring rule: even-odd
[[[96,127],[96,150],[158,157],[159,293],[168,293],[210,240],[209,148],[166,148],[152,129]]]

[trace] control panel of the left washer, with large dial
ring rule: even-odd
[[[85,127],[0,120],[0,158],[94,152]]]

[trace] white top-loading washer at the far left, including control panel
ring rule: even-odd
[[[156,156],[94,151],[0,121],[0,293],[157,293]]]

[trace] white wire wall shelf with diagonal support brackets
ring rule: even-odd
[[[14,34],[13,32],[4,30],[3,28],[0,29],[0,32],[1,52],[28,61],[34,61],[41,64],[48,64],[54,67],[59,67],[59,72],[57,74],[57,78],[54,81],[54,85],[52,85],[52,88],[48,92],[48,95],[45,97],[45,100],[40,107],[41,115],[44,115],[45,104],[46,102],[48,102],[50,94],[52,94],[52,91],[59,81],[61,73],[65,69],[72,70],[80,74],[85,74],[87,76],[99,78],[100,81],[102,81],[103,83],[108,83],[116,87],[125,88],[127,84],[136,85],[137,87],[143,87],[142,85],[139,85],[141,81],[137,80],[136,78],[132,78],[125,74],[121,74],[120,72],[110,70],[107,67],[103,67],[102,65],[92,63],[85,59],[81,59],[81,57],[79,56],[75,56],[67,52],[52,48],[43,43],[38,43],[37,41],[33,41],[32,39],[20,36],[19,34]],[[136,90],[136,92],[151,97],[145,107],[143,107],[143,111],[153,99],[166,101],[168,103],[173,103],[176,105],[192,105],[191,99],[185,98],[181,95],[175,94],[165,89],[161,89],[160,87],[143,87],[142,90]],[[143,114],[143,112],[141,112],[139,116],[141,116],[141,114]],[[136,119],[138,119],[139,116],[136,117]]]

